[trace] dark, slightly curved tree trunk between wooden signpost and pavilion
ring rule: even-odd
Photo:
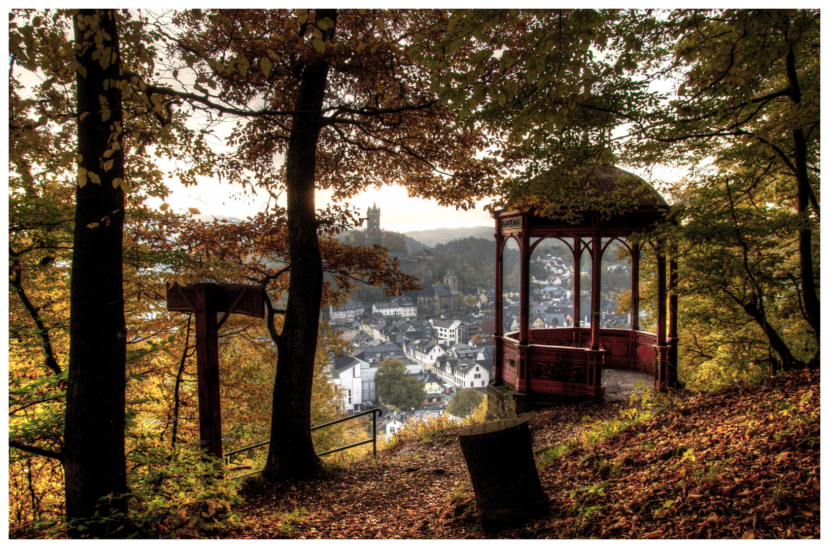
[[[324,17],[336,22],[337,12],[316,11],[317,21]],[[334,27],[322,34],[323,41],[331,41]],[[317,237],[314,176],[327,75],[328,65],[324,60],[313,57],[306,61],[295,109],[299,114],[293,116],[285,154],[291,273],[284,328],[279,336],[268,462],[262,473],[269,479],[308,477],[320,468],[313,449],[308,410],[322,301],[322,255]]]

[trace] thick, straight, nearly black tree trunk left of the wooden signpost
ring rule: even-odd
[[[124,178],[118,34],[112,10],[80,10],[75,16],[78,153],[75,233],[70,285],[69,381],[66,389],[64,467],[66,516],[85,518],[96,509],[124,510],[113,497],[127,490],[124,458],[126,324],[122,240],[124,192],[113,187]],[[100,41],[96,46],[96,38]],[[93,53],[100,56],[93,58]],[[109,56],[107,58],[106,56]],[[85,74],[84,74],[85,72]],[[105,104],[104,100],[105,99]],[[104,166],[104,162],[112,160]],[[109,167],[109,169],[107,169]],[[99,179],[96,179],[95,174]],[[80,184],[83,183],[81,187]],[[85,533],[103,536],[106,531]],[[70,535],[79,531],[70,531]]]

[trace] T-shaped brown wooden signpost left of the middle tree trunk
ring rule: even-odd
[[[242,284],[167,285],[167,310],[196,315],[196,372],[202,447],[222,458],[219,327],[232,313],[264,318],[264,288]],[[224,313],[216,323],[216,314]]]

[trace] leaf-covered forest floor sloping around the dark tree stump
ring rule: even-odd
[[[620,402],[523,415],[550,514],[497,537],[819,538],[819,377],[640,399],[633,424]],[[398,439],[315,481],[250,483],[225,538],[484,538],[460,429]]]

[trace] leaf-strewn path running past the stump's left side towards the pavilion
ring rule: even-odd
[[[579,434],[584,422],[618,416],[619,404],[584,402],[525,415],[538,451]],[[589,419],[587,419],[589,417]],[[584,418],[584,421],[582,420]],[[468,538],[479,532],[458,430],[400,444],[332,468],[316,482],[245,492],[235,538]]]

